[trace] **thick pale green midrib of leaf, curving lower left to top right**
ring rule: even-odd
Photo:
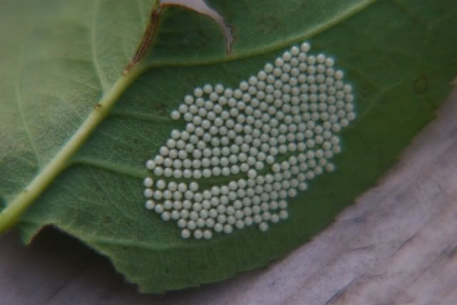
[[[363,2],[358,6],[351,6],[350,9],[340,14],[338,17],[333,18],[322,24],[321,26],[316,26],[315,28],[306,31],[305,33],[297,36],[290,37],[287,40],[280,41],[277,44],[271,44],[269,46],[264,46],[262,48],[253,49],[253,51],[245,53],[231,53],[226,54],[224,57],[217,57],[209,60],[193,60],[193,61],[160,61],[153,64],[148,64],[146,59],[142,59],[136,66],[133,66],[126,74],[121,74],[119,79],[111,86],[111,89],[102,97],[99,103],[94,104],[94,110],[91,111],[86,120],[81,124],[79,129],[75,131],[73,136],[69,141],[62,147],[62,149],[54,156],[51,161],[46,164],[42,171],[37,174],[34,179],[27,185],[21,193],[19,193],[16,198],[9,203],[6,208],[0,213],[0,232],[10,229],[12,226],[19,221],[19,218],[26,211],[26,209],[31,206],[35,199],[37,199],[41,193],[51,184],[52,181],[59,176],[64,169],[71,165],[71,157],[76,154],[76,151],[84,144],[86,139],[89,138],[91,133],[96,129],[96,127],[103,121],[106,116],[109,115],[112,107],[116,104],[116,101],[124,93],[124,91],[130,86],[130,84],[136,80],[141,74],[149,69],[156,69],[162,67],[176,67],[176,66],[196,66],[203,64],[220,64],[226,61],[233,61],[237,59],[243,59],[246,57],[256,56],[260,54],[267,53],[268,51],[274,51],[276,49],[281,49],[285,46],[292,44],[295,41],[300,41],[307,39],[316,34],[320,34],[323,31],[331,28],[332,26],[344,21],[354,14],[366,9],[371,4],[375,3],[377,0],[368,0]],[[96,2],[98,3],[98,1]],[[94,34],[91,34],[91,39],[94,39]],[[93,42],[94,44],[94,42]],[[152,44],[151,47],[153,47]],[[92,46],[94,48],[94,46]],[[93,50],[95,51],[95,50]],[[149,53],[151,50],[149,51]],[[94,54],[96,57],[96,54]],[[94,62],[96,66],[96,62]],[[96,67],[97,74],[99,74],[99,69]],[[102,87],[104,87],[103,79],[101,79],[101,74],[99,74],[99,79],[101,81]],[[129,173],[125,172],[124,174],[130,174],[132,176],[139,176],[139,173]]]

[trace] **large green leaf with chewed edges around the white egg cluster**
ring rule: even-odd
[[[17,224],[24,241],[54,225],[108,256],[141,291],[227,279],[307,241],[375,185],[456,76],[451,0],[208,2],[233,27],[231,52],[207,16],[164,7],[149,54],[125,75],[154,1],[2,4],[1,229],[27,209]],[[196,86],[236,88],[303,40],[336,59],[356,94],[337,170],[289,200],[288,219],[265,233],[181,239],[174,221],[144,208],[142,185],[145,161],[184,127],[171,111]]]

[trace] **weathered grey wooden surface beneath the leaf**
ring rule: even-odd
[[[107,259],[46,229],[0,236],[0,304],[457,304],[457,92],[375,189],[263,270],[141,295]]]

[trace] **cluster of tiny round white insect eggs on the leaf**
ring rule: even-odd
[[[237,89],[205,84],[171,113],[171,131],[146,161],[146,209],[176,221],[184,239],[211,239],[288,218],[288,200],[333,171],[337,134],[356,118],[333,58],[293,46]],[[219,182],[218,182],[219,181]]]

